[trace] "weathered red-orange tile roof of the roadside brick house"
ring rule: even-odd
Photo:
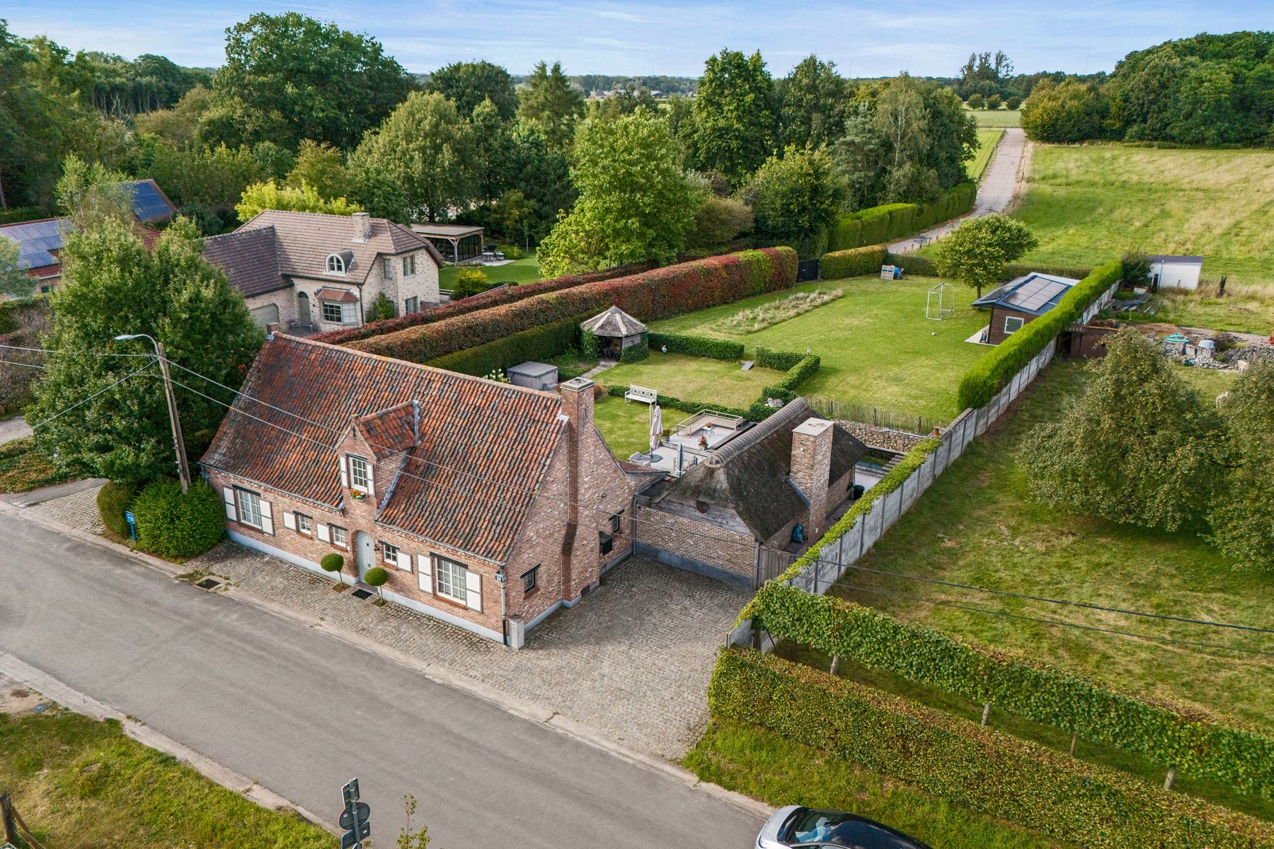
[[[334,446],[352,420],[401,447],[419,402],[414,447],[378,521],[496,563],[562,439],[557,396],[293,336],[265,344],[241,391],[250,398],[236,400],[203,463],[334,507]]]

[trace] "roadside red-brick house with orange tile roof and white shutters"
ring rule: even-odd
[[[492,640],[595,587],[632,550],[632,491],[561,396],[271,333],[201,461],[236,542]]]

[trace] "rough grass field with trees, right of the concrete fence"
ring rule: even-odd
[[[1268,626],[1269,577],[1236,570],[1203,538],[1066,516],[1029,498],[1014,453],[1033,424],[1056,419],[1083,381],[1077,364],[1051,365],[1003,429],[970,446],[859,563],[1024,594]],[[1274,650],[1269,635],[991,597],[859,570],[850,570],[836,592],[906,621],[1023,652],[1142,698],[1168,699],[1274,732],[1274,659],[1269,657],[1166,645],[926,602]]]

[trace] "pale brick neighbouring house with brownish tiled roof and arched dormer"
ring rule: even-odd
[[[367,213],[265,210],[204,241],[204,258],[243,293],[261,326],[325,332],[371,321],[380,295],[395,316],[438,304],[438,249]]]

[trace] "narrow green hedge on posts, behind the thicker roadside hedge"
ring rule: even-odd
[[[775,636],[1140,752],[1166,769],[1215,779],[1240,793],[1274,798],[1274,738],[1140,701],[782,579],[766,583],[745,616]]]

